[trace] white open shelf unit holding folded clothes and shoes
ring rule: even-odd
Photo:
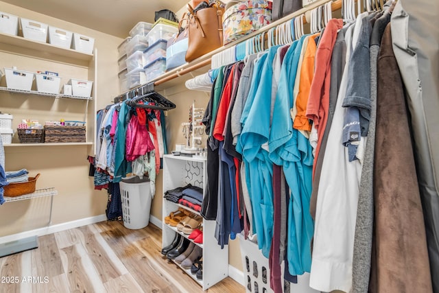
[[[184,187],[187,184],[206,188],[206,170],[207,161],[205,159],[195,159],[185,156],[165,155],[163,158],[163,192],[177,187]],[[197,213],[181,204],[170,202],[163,198],[163,217],[169,215],[171,211],[176,211],[178,207],[188,209],[193,213]],[[198,215],[200,213],[197,213]],[[171,244],[175,233],[180,233],[184,237],[188,237],[176,228],[165,224],[163,220],[163,247]],[[203,220],[203,244],[196,244],[203,250],[203,279],[197,280],[190,270],[184,270],[189,276],[197,281],[203,288],[207,290],[215,283],[228,277],[228,246],[224,249],[217,244],[215,239],[215,221]]]

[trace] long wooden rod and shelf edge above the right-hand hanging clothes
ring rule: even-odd
[[[329,0],[331,1],[331,0]],[[211,51],[208,55],[209,57],[207,57],[205,60],[202,60],[201,62],[198,62],[195,65],[191,65],[185,69],[180,69],[178,71],[176,71],[175,73],[171,73],[171,75],[167,75],[163,78],[160,78],[158,80],[156,80],[154,82],[154,86],[157,86],[159,84],[163,84],[165,82],[169,82],[169,80],[174,80],[174,78],[178,78],[181,75],[185,75],[187,73],[191,73],[192,71],[195,71],[197,69],[200,69],[204,66],[207,66],[209,64],[211,64],[211,59],[212,56],[214,54],[219,53],[220,51],[223,51],[224,49],[227,49],[228,47],[232,47],[233,45],[237,45],[238,43],[243,42],[244,40],[248,40],[249,38],[252,38],[253,36],[256,36],[257,34],[261,34],[262,32],[267,32],[268,30],[270,30],[272,27],[276,27],[277,25],[280,25],[281,23],[285,23],[286,21],[289,21],[291,19],[293,19],[296,16],[299,16],[300,14],[307,14],[307,12],[311,11],[314,8],[317,8],[321,5],[324,5],[325,3],[329,2],[328,0],[322,0],[322,1],[316,1],[311,3],[309,6],[302,8],[300,10],[297,10],[296,12],[293,12],[292,14],[289,14],[285,17],[283,17],[282,19],[278,19],[277,21],[274,21],[272,23],[270,23],[269,25],[266,25],[265,27],[263,27],[261,30],[258,30],[257,32],[252,32],[252,34],[248,34],[247,36],[244,36],[242,38],[239,38],[239,40],[236,40],[233,43],[230,43],[228,45],[226,45],[226,47],[220,47],[214,51]],[[336,11],[336,10],[340,10],[342,8],[342,0],[333,0],[331,3],[331,10],[332,11]],[[307,23],[307,17],[305,17],[303,19],[304,23]],[[201,57],[202,58],[202,57]]]

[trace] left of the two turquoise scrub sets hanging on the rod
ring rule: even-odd
[[[258,245],[265,257],[270,254],[273,228],[273,189],[272,189],[272,162],[268,159],[268,152],[262,145],[268,142],[270,136],[270,108],[272,92],[273,60],[279,46],[268,49],[265,62],[261,69],[261,79],[249,97],[244,111],[248,109],[246,121],[241,132],[241,146],[244,160],[250,169],[250,199],[252,200],[253,215]],[[250,105],[250,96],[254,95]],[[244,117],[244,113],[243,113]],[[242,118],[241,118],[242,120]]]

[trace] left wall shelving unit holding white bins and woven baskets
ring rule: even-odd
[[[95,133],[96,110],[96,67],[97,50],[94,54],[84,54],[73,49],[64,49],[48,43],[25,39],[0,33],[0,69],[16,67],[19,70],[37,72],[54,71],[61,78],[60,84],[67,84],[71,78],[93,81],[91,97],[76,97],[55,93],[12,90],[6,87],[5,77],[0,80],[0,110],[14,115],[12,128],[22,119],[37,119],[40,124],[45,121],[86,121],[86,143],[75,145],[91,145]],[[35,82],[35,81],[34,81]],[[12,144],[19,144],[15,135]],[[63,145],[63,143],[27,144],[30,145]],[[72,143],[66,143],[72,145]]]

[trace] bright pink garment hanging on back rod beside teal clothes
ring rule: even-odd
[[[137,115],[132,115],[126,128],[126,161],[134,161],[152,150],[154,144],[146,126],[139,123]]]

